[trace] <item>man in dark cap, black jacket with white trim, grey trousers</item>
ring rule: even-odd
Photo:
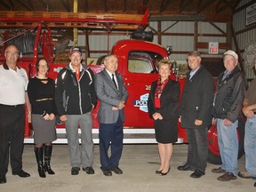
[[[82,64],[80,47],[69,52],[71,62],[62,68],[57,78],[55,102],[60,120],[65,122],[68,150],[71,161],[71,175],[83,171],[93,174],[92,109],[97,103],[94,90],[94,76],[91,68]],[[78,141],[78,125],[81,129],[81,153]],[[80,156],[81,154],[81,156]]]

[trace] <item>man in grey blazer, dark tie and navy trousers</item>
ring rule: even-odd
[[[100,169],[104,175],[111,176],[111,171],[116,174],[123,173],[118,165],[123,151],[124,106],[128,92],[122,76],[116,73],[116,55],[106,56],[104,65],[105,69],[95,76],[95,90],[100,100]],[[110,143],[111,156],[108,156]]]

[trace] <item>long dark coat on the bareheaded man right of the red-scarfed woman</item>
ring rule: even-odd
[[[205,128],[212,124],[213,78],[201,66],[189,80],[189,72],[180,102],[181,126],[184,128]],[[195,120],[202,120],[197,126]]]

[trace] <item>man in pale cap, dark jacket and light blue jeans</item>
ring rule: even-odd
[[[213,100],[213,123],[217,122],[218,143],[220,148],[221,166],[212,169],[214,173],[223,173],[217,180],[236,180],[238,137],[236,128],[246,87],[244,73],[237,67],[236,52],[224,52],[226,70],[218,77]]]

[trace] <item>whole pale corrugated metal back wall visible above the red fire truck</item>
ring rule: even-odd
[[[172,26],[174,21],[162,21],[161,23],[161,32],[164,31],[164,33],[174,33],[179,34],[181,33],[182,36],[165,36],[162,35],[162,44],[164,47],[168,45],[172,45],[173,51],[177,52],[190,52],[194,50],[194,36],[191,36],[191,34],[194,34],[195,31],[195,22],[194,21],[179,21],[177,24]],[[226,23],[214,23],[216,26],[221,28],[223,31],[227,30]],[[149,23],[150,28],[154,28],[157,30],[157,22],[150,22]],[[172,28],[170,28],[172,26]],[[150,30],[150,28],[146,28],[147,30]],[[169,28],[169,29],[168,29]],[[214,36],[204,36],[204,34],[220,34],[220,31],[218,31],[216,28],[212,27],[208,22],[198,22],[198,41],[199,42],[218,42],[218,43],[226,43],[225,37],[214,37]],[[105,33],[106,34],[106,33]],[[186,34],[190,34],[190,36],[186,36]],[[185,35],[185,36],[184,36]],[[111,36],[111,33],[109,36],[90,36],[89,39],[89,45],[91,51],[104,51],[104,50],[111,50],[111,47],[113,44],[116,43],[116,41],[120,39],[129,39],[130,34],[127,33],[127,36]],[[85,44],[85,37],[79,37],[78,41],[80,46],[84,46]],[[154,36],[154,43],[158,44],[157,42],[157,36]],[[204,52],[207,52],[207,50],[204,50]],[[186,53],[184,54],[172,54],[171,60],[186,60]],[[100,57],[100,53],[91,53],[91,57]],[[207,56],[209,57],[209,55]],[[211,55],[211,57],[221,57],[220,55]]]

